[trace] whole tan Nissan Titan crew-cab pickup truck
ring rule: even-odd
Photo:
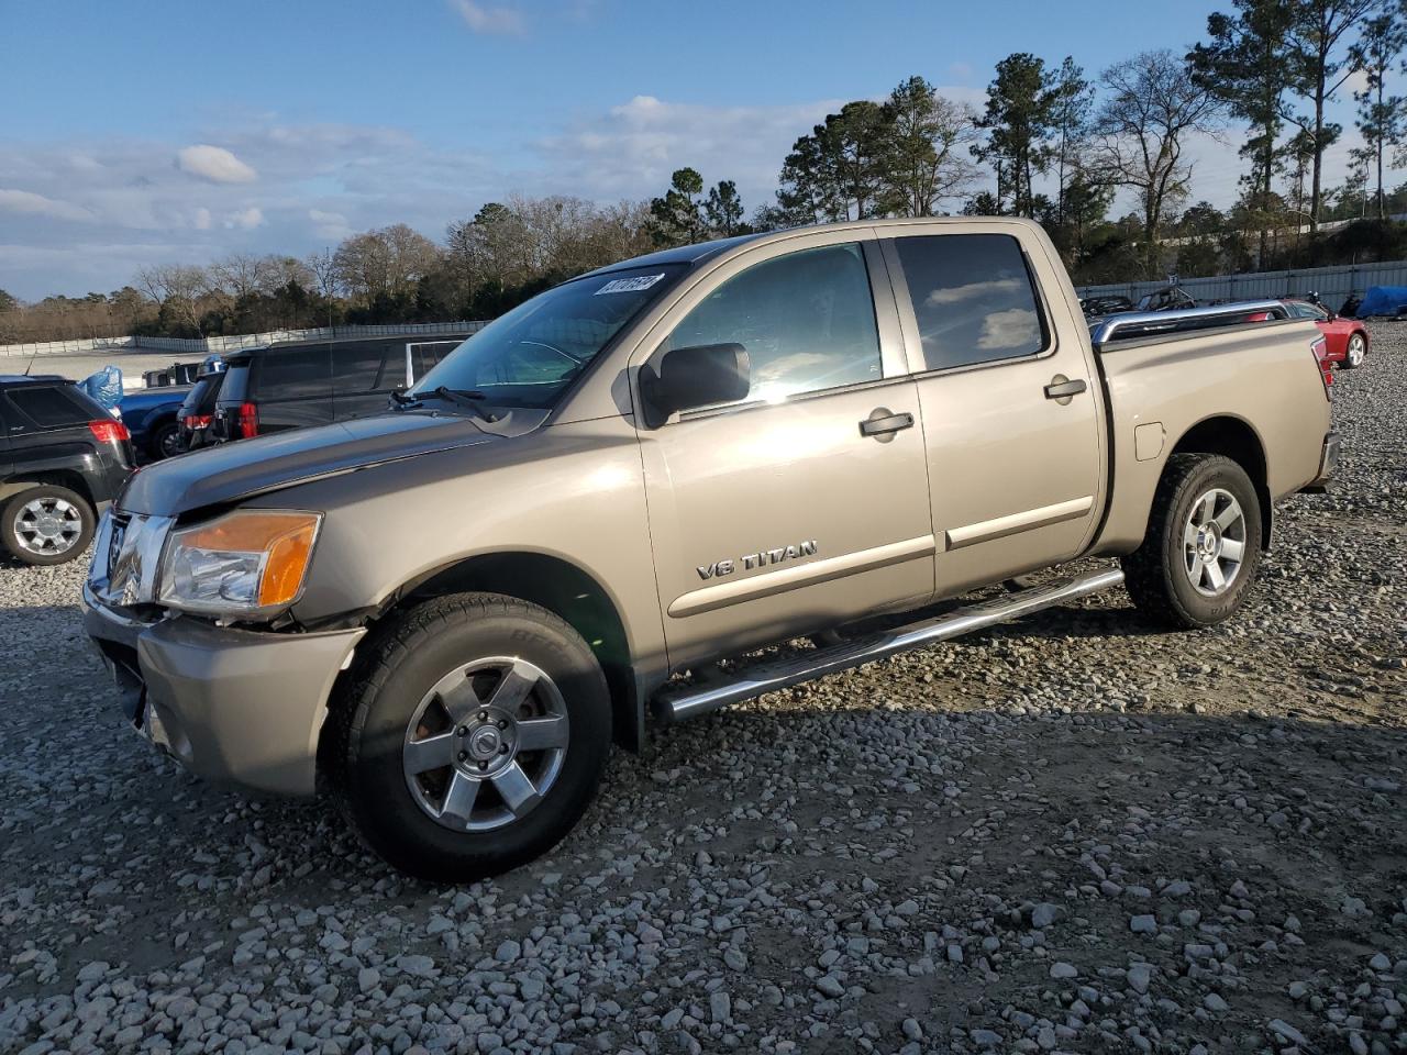
[[[395,867],[480,876],[560,840],[651,712],[1120,584],[1169,627],[1228,618],[1275,502],[1332,468],[1320,340],[1279,304],[1092,340],[1017,219],[670,249],[508,312],[384,414],[142,470],[86,625],[190,769],[324,786]],[[1090,556],[1121,567],[1012,584]]]

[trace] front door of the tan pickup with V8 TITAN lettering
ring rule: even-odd
[[[926,601],[923,429],[874,242],[820,234],[734,257],[635,363],[709,345],[743,346],[747,395],[637,422],[671,665]]]

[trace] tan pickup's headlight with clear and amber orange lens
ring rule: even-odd
[[[174,530],[160,602],[183,612],[274,615],[303,589],[321,513],[246,509]]]

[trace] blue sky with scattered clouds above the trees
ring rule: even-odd
[[[981,107],[1010,52],[1092,76],[1180,53],[1216,7],[0,0],[0,288],[106,293],[146,264],[305,256],[395,222],[442,239],[512,193],[649,198],[685,165],[734,180],[750,212],[847,100],[917,73]],[[1238,146],[1195,145],[1196,198],[1235,197]]]

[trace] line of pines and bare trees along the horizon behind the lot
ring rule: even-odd
[[[1233,0],[1204,38],[1095,75],[1074,56],[996,63],[978,110],[910,76],[796,138],[772,200],[674,172],[650,201],[509,197],[433,242],[404,224],[300,260],[231,255],[138,271],[131,286],[23,305],[0,291],[0,340],[172,336],[488,318],[574,274],[656,248],[803,224],[1016,215],[1051,235],[1076,283],[1407,256],[1407,0]],[[1325,180],[1352,94],[1361,145]],[[1189,151],[1242,136],[1238,196],[1195,200]],[[1110,214],[1123,191],[1134,210]]]

